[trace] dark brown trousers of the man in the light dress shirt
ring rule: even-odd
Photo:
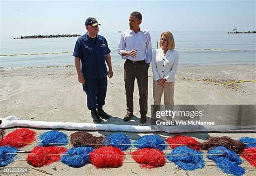
[[[140,115],[146,116],[147,114],[147,71],[149,70],[149,64],[146,64],[145,60],[139,62],[132,62],[126,59],[124,63],[124,83],[126,94],[126,107],[127,113],[133,113],[133,92],[134,92],[134,80],[137,79],[139,87],[139,107]]]

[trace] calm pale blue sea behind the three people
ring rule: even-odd
[[[152,48],[157,48],[160,32],[151,31]],[[117,53],[121,33],[99,33],[109,43],[112,63],[123,64]],[[39,35],[39,34],[38,34]],[[50,35],[50,34],[49,34]],[[83,35],[83,34],[82,34]],[[255,34],[227,34],[226,31],[175,31],[180,65],[255,64]],[[72,52],[78,37],[14,39],[2,36],[0,55]],[[218,50],[208,50],[218,49]],[[221,51],[225,49],[225,51]],[[235,50],[235,51],[232,51]],[[74,65],[72,53],[32,56],[2,56],[0,67]]]

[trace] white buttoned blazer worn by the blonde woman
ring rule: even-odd
[[[167,82],[174,82],[175,73],[179,65],[179,52],[168,50],[165,55],[163,50],[157,49],[152,53],[152,72],[153,79],[165,78]]]

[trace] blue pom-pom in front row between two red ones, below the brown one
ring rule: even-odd
[[[90,161],[89,153],[93,151],[92,147],[76,147],[68,150],[61,158],[62,163],[70,167],[83,167]]]

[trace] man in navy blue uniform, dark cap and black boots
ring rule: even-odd
[[[111,51],[106,39],[98,35],[99,25],[95,18],[86,19],[85,28],[88,32],[77,39],[73,52],[78,81],[83,84],[83,90],[87,94],[87,107],[91,110],[91,117],[96,123],[102,121],[100,117],[110,118],[109,114],[103,111],[103,105],[106,98],[107,76],[113,76]]]

